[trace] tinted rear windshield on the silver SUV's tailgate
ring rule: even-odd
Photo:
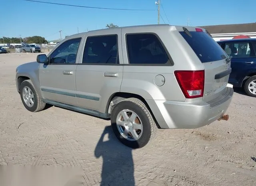
[[[226,53],[206,32],[180,32],[202,63],[225,59]]]

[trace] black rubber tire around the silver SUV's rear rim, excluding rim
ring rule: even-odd
[[[120,113],[120,111],[124,109],[129,109],[136,113],[136,115],[138,115],[142,122],[143,132],[138,140],[130,141],[128,139],[125,139],[118,131],[116,119],[118,117],[118,113]],[[142,101],[140,101],[140,99],[137,98],[124,99],[114,106],[111,112],[111,126],[118,140],[120,140],[120,142],[122,142],[124,145],[130,148],[144,147],[146,144],[152,141],[154,137],[156,137],[158,131],[158,128],[150,111],[148,110],[146,105]]]

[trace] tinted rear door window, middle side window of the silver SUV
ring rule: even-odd
[[[88,37],[82,63],[119,64],[117,41],[117,35]]]

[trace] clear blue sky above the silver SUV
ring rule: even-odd
[[[62,38],[88,30],[118,26],[157,24],[156,0],[40,0],[62,4],[104,8],[150,9],[122,11],[79,8],[24,0],[1,0],[0,37],[43,36],[46,40]],[[192,26],[256,22],[256,0],[161,0],[160,13],[166,23]],[[164,9],[163,9],[164,8]],[[166,12],[166,16],[164,14]],[[160,23],[164,23],[160,18]]]

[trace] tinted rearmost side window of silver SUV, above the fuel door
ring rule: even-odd
[[[127,34],[126,43],[130,64],[165,64],[169,61],[154,34]]]

